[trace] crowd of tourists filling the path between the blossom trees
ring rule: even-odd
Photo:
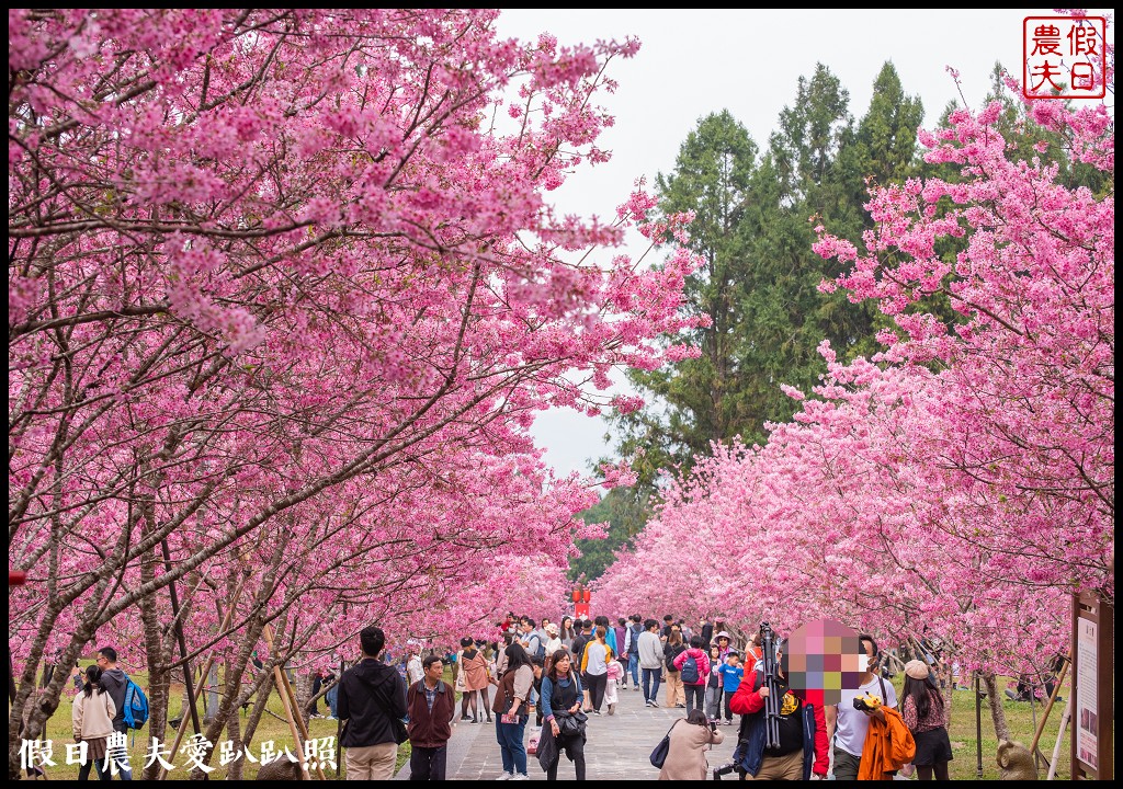
[[[409,741],[410,778],[444,780],[454,727],[491,724],[502,764],[497,780],[529,780],[531,761],[556,780],[563,755],[573,764],[572,773],[564,772],[585,780],[588,716],[613,715],[624,692],[642,692],[647,707],[684,710],[660,744],[659,760],[652,754],[660,779],[697,780],[712,771],[742,779],[832,773],[855,780],[913,770],[920,779],[948,778],[948,716],[933,667],[922,659],[904,663],[898,703],[869,635],[860,636],[868,664],[859,687],[824,707],[788,688],[786,642],[775,648],[777,669],[769,680],[759,633],[741,644],[720,621],[691,627],[673,616],[550,622],[511,614],[497,629],[495,640],[466,635],[455,650],[422,657],[411,649],[396,666],[380,659],[382,631],[364,630],[363,660],[338,684],[347,778],[391,778],[398,746]],[[766,737],[770,692],[780,701],[773,705],[775,731]],[[711,767],[707,752],[734,725],[732,761]]]

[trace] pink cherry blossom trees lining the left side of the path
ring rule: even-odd
[[[9,12],[28,736],[56,650],[127,644],[159,687],[182,627],[234,705],[267,676],[254,650],[310,667],[372,622],[447,643],[562,604],[595,494],[528,429],[609,405],[579,384],[599,371],[660,365],[696,260],[611,249],[643,230],[640,191],[612,224],[544,196],[605,158],[596,98],[638,44],[501,39],[496,13]],[[500,132],[512,84],[527,111]]]

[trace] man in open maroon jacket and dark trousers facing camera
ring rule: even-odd
[[[421,671],[421,679],[405,694],[410,714],[410,780],[444,781],[456,694],[441,679],[445,664],[438,655],[426,655]]]

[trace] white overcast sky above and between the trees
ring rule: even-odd
[[[1089,13],[1107,16],[1103,9]],[[958,99],[944,66],[959,71],[964,95],[978,109],[996,61],[1021,73],[1022,24],[1051,9],[893,11],[504,9],[502,36],[535,40],[553,34],[560,44],[636,36],[639,54],[617,61],[614,94],[599,97],[615,117],[599,146],[612,159],[570,176],[551,199],[560,213],[611,218],[637,177],[649,185],[674,169],[675,157],[697,121],[729,110],[763,148],[780,110],[795,98],[796,81],[823,63],[850,92],[850,113],[869,105],[874,79],[886,61],[904,90],[924,103],[932,127],[948,101]],[[1108,40],[1114,33],[1108,19]],[[1108,97],[1108,101],[1112,101]],[[587,473],[590,460],[611,453],[601,419],[547,411],[532,432],[558,474]]]

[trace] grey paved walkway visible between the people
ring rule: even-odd
[[[665,687],[665,686],[664,686]],[[659,703],[665,697],[659,688]],[[620,703],[614,715],[609,715],[606,705],[601,715],[588,716],[588,740],[585,742],[586,778],[588,780],[658,780],[659,771],[651,767],[651,750],[663,738],[677,718],[686,717],[685,709],[647,707],[643,694],[631,686],[619,691]],[[459,705],[457,705],[459,707]],[[459,709],[457,709],[459,717]],[[531,718],[533,723],[533,718]],[[734,717],[734,724],[739,718]],[[730,761],[737,741],[737,726],[720,726],[725,742],[710,752],[711,770]],[[528,734],[530,727],[527,727]],[[494,780],[503,772],[499,743],[495,741],[495,724],[459,723],[453,727],[453,738],[448,743],[449,780]],[[407,762],[394,780],[409,779]],[[533,781],[545,781],[546,773],[538,760],[527,756],[527,773]],[[573,762],[563,754],[558,767],[558,780],[574,778]],[[736,776],[727,777],[727,780]]]

